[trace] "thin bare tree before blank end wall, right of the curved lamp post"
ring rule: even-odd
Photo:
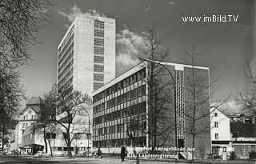
[[[192,51],[187,52],[190,58],[190,65],[192,68],[186,70],[184,75],[185,82],[185,122],[186,122],[186,140],[189,140],[190,146],[195,148],[199,144],[200,138],[206,138],[206,142],[201,140],[201,146],[197,146],[201,158],[205,156],[205,144],[210,145],[210,114],[214,110],[210,110],[210,96],[214,93],[210,88],[214,87],[214,83],[218,79],[210,82],[210,70],[201,70],[195,68],[198,57],[202,53],[195,51],[195,44]],[[225,102],[215,103],[214,109],[218,109]],[[198,142],[198,143],[197,143]],[[209,143],[208,143],[209,142]],[[195,152],[192,152],[192,163],[194,163]]]

